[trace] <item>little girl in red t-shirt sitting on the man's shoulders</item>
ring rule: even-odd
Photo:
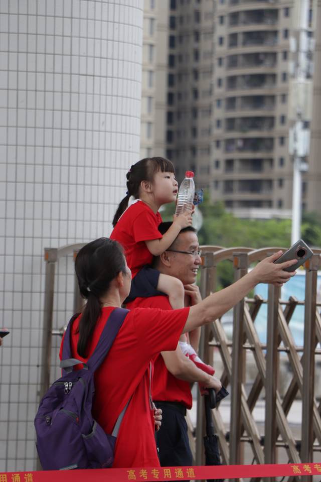
[[[150,267],[153,256],[170,248],[181,229],[192,224],[192,212],[185,212],[174,215],[174,221],[164,235],[158,231],[162,222],[158,209],[175,201],[178,193],[174,166],[163,157],[141,159],[131,166],[126,178],[127,193],[114,215],[114,229],[110,235],[124,248],[132,273],[131,290],[125,303],[165,293],[173,309],[183,308],[182,283]],[[128,207],[131,197],[133,202]]]

